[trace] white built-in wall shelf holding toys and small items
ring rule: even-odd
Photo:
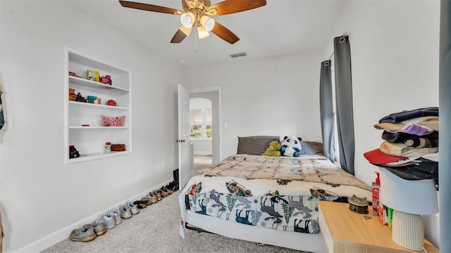
[[[64,161],[66,164],[132,153],[131,72],[84,53],[64,48]],[[111,84],[87,79],[87,70],[99,77],[111,77]],[[74,72],[79,77],[69,75]],[[97,97],[97,103],[69,99],[69,89],[80,96]],[[100,102],[98,102],[100,100]],[[116,106],[107,105],[114,100]],[[125,116],[123,126],[102,126],[101,116]],[[126,151],[105,153],[105,143],[125,144]],[[80,157],[69,157],[69,146],[75,145]]]

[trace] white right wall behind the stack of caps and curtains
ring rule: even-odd
[[[373,128],[392,112],[438,106],[440,1],[347,1],[333,37],[350,34],[355,174],[371,185],[363,153],[382,143]],[[383,189],[383,186],[381,186]],[[426,238],[438,246],[438,214],[425,217]]]

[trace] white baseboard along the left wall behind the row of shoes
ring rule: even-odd
[[[82,219],[73,224],[70,224],[69,226],[66,226],[65,228],[61,228],[60,230],[55,231],[54,233],[46,235],[43,238],[41,238],[35,242],[32,242],[29,245],[26,245],[25,247],[18,249],[16,252],[18,252],[18,253],[42,252],[42,250],[47,249],[48,247],[56,245],[58,242],[61,242],[62,240],[66,240],[67,238],[69,238],[70,232],[72,232],[75,228],[81,228],[85,224],[92,223],[96,219],[99,219],[102,215],[106,214],[106,212],[108,212],[112,209],[115,209],[119,205],[123,205],[123,203],[128,202],[128,201],[134,201],[137,199],[141,199],[142,196],[147,195],[147,193],[149,193],[150,191],[159,189],[159,188],[161,188],[161,186],[166,186],[171,181],[167,181],[167,182],[161,184],[160,186],[157,186],[156,188],[144,190],[142,193],[132,196],[121,202],[118,202],[115,205],[112,205],[111,207],[104,209],[101,212],[98,212],[97,214],[92,214],[92,216],[89,216],[85,219]]]

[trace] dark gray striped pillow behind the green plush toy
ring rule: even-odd
[[[271,141],[279,141],[279,136],[238,136],[237,154],[261,155]]]

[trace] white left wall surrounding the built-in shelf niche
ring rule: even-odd
[[[37,252],[83,219],[172,180],[178,151],[167,140],[177,138],[180,70],[65,1],[0,6],[5,112],[14,119],[13,130],[0,132],[3,249]],[[132,154],[63,164],[63,46],[132,71]]]

